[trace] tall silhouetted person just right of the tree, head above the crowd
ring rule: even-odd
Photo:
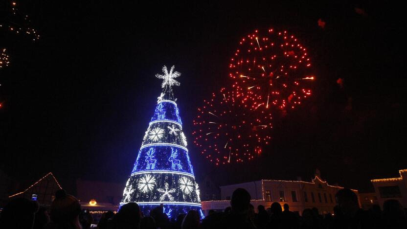
[[[202,221],[204,229],[253,229],[249,220],[250,194],[244,188],[237,188],[230,200],[230,212],[216,212]]]

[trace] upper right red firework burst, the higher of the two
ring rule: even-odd
[[[307,49],[287,31],[255,30],[244,37],[229,64],[236,98],[249,109],[271,114],[271,107],[294,109],[311,95],[315,79]]]

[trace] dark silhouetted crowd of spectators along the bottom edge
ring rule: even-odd
[[[336,194],[338,205],[334,214],[320,215],[317,208],[304,209],[301,216],[290,211],[285,204],[273,203],[265,209],[250,204],[250,194],[243,188],[236,189],[230,207],[223,212],[209,211],[201,219],[197,211],[190,210],[175,219],[157,206],[144,216],[136,203],[123,205],[114,214],[103,213],[97,226],[92,224],[89,212],[81,209],[79,201],[64,190],[55,193],[49,209],[36,201],[24,198],[11,200],[1,211],[0,229],[405,229],[405,209],[397,200],[387,200],[383,211],[379,206],[369,210],[359,207],[358,197],[350,189]],[[284,210],[283,210],[284,208]]]

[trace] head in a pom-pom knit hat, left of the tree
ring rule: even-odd
[[[68,195],[65,190],[55,192],[55,199],[50,207],[50,218],[54,223],[74,222],[81,213],[81,205],[78,199]]]

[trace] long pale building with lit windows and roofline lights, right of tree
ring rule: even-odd
[[[290,210],[302,214],[305,208],[317,207],[321,214],[332,213],[336,205],[335,194],[343,187],[329,185],[318,176],[312,182],[260,180],[248,183],[238,183],[221,186],[220,201],[204,201],[202,209],[205,215],[210,209],[224,210],[230,206],[230,198],[236,188],[245,188],[251,196],[251,204],[257,209],[258,205],[266,208],[273,202],[281,206],[288,204]],[[358,195],[358,190],[352,189]]]

